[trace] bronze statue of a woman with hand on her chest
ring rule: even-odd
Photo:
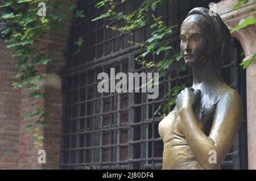
[[[180,48],[192,66],[193,85],[180,92],[159,124],[163,169],[220,169],[241,125],[240,95],[218,75],[231,36],[220,16],[209,12],[197,7],[181,25]],[[215,162],[209,161],[212,153]]]

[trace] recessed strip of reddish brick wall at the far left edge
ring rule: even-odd
[[[20,91],[12,86],[16,71],[10,49],[0,40],[0,169],[16,169],[18,163]]]

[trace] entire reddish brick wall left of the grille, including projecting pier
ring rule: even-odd
[[[69,3],[73,5],[76,0],[69,0]],[[48,127],[39,133],[44,136],[41,148],[34,146],[34,131],[22,129],[36,120],[23,117],[24,113],[35,110],[35,107],[31,107],[35,99],[29,98],[30,92],[26,87],[13,90],[12,83],[18,69],[11,61],[10,54],[5,48],[6,44],[0,41],[0,169],[59,169],[63,105],[59,72],[65,64],[64,51],[67,47],[72,12],[65,9],[55,11],[69,14],[61,32],[49,30],[44,41],[38,44],[38,48],[44,48],[44,53],[53,60],[47,66],[38,68],[40,73],[47,75],[42,90],[50,93],[45,99],[39,100],[38,108],[45,108],[46,112],[51,114],[51,117],[46,119]],[[38,163],[40,149],[46,151],[46,164]]]

